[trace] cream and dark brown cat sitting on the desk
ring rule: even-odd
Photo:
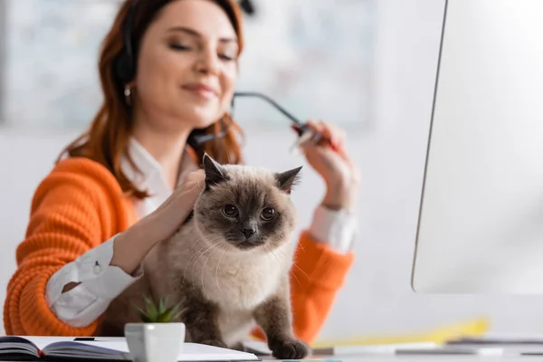
[[[111,302],[102,334],[138,322],[131,303],[141,305],[142,295],[154,300],[170,296],[171,302],[181,301],[188,308],[181,317],[188,341],[235,348],[258,324],[274,355],[306,356],[307,347],[291,331],[289,284],[296,221],[290,192],[299,171],[275,174],[220,166],[205,156],[205,190],[196,201],[194,217],[148,253],[142,263],[144,275]],[[225,204],[238,206],[238,219],[225,217]],[[276,212],[271,222],[252,217],[266,205]],[[251,239],[257,246],[235,246],[244,241],[236,229],[243,220],[260,223]]]

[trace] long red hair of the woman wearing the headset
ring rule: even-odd
[[[101,45],[100,51],[100,83],[104,95],[103,104],[90,124],[90,128],[79,138],[62,150],[61,157],[88,157],[107,167],[117,178],[122,190],[138,198],[147,197],[145,190],[138,190],[121,170],[122,157],[127,157],[133,167],[136,167],[129,157],[129,138],[132,133],[132,119],[129,105],[126,104],[123,90],[115,76],[114,67],[123,49],[123,26],[129,16],[133,2],[138,4],[133,19],[132,41],[134,57],[137,58],[138,45],[148,25],[156,18],[158,12],[167,4],[176,0],[126,0],[120,5],[110,32]],[[208,0],[219,5],[228,15],[233,29],[237,35],[239,52],[243,49],[242,13],[235,0]],[[199,159],[207,152],[220,163],[238,164],[242,161],[241,147],[237,136],[242,134],[239,126],[229,115],[222,119],[225,125],[231,124],[229,132],[222,138],[215,138],[195,148]],[[221,120],[218,120],[207,129],[194,130],[205,134],[218,133],[222,130]],[[59,157],[59,159],[61,158]]]

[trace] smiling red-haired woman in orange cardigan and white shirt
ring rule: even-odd
[[[233,0],[125,0],[100,52],[103,103],[33,196],[7,288],[8,334],[97,333],[111,300],[144,276],[148,252],[167,243],[202,199],[209,182],[200,169],[204,155],[223,165],[243,163],[240,129],[228,113],[242,51],[242,17]],[[224,122],[233,127],[218,137]],[[308,124],[336,149],[310,141],[300,146],[326,193],[300,233],[296,267],[281,279],[290,285],[281,298],[292,303],[292,316],[288,310],[281,325],[294,334],[261,325],[275,337],[268,340],[271,348],[283,351],[297,348],[292,336],[315,338],[354,258],[359,172],[345,132],[325,122]],[[202,133],[216,137],[191,142]],[[269,179],[279,188],[289,184],[277,191],[289,197],[290,181],[281,175]],[[225,213],[242,213],[240,200],[231,198],[206,215],[222,215],[222,206]],[[280,218],[265,205],[253,212],[264,221]],[[272,228],[273,222],[264,224]],[[252,227],[233,224],[222,237],[246,233],[254,239]],[[214,308],[204,312],[198,320],[218,318]]]

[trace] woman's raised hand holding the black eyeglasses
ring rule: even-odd
[[[345,131],[322,121],[309,121],[308,125],[329,138],[336,148],[334,150],[322,141],[315,144],[311,140],[300,145],[308,163],[326,184],[322,205],[332,210],[352,210],[357,201],[360,172],[345,149]]]

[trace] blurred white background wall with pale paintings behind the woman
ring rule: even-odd
[[[0,300],[34,188],[100,101],[97,59],[117,0],[0,0]],[[539,297],[420,295],[410,278],[444,0],[252,0],[238,90],[262,91],[301,119],[348,130],[363,173],[357,260],[319,339],[416,333],[489,318],[543,330]],[[484,21],[484,19],[481,19]],[[289,121],[237,100],[248,163],[283,169]],[[286,168],[285,168],[286,169]],[[324,189],[305,168],[300,228]]]

